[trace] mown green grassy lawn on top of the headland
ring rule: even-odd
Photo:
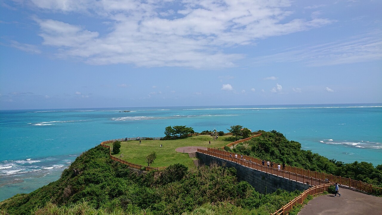
[[[211,141],[211,145],[209,145]],[[188,153],[180,153],[175,151],[176,148],[186,146],[202,146],[202,147],[222,147],[230,142],[235,141],[235,138],[227,135],[221,136],[217,140],[210,135],[198,135],[176,140],[142,140],[139,144],[137,140],[121,142],[121,151],[118,155],[123,154],[122,160],[147,166],[146,155],[151,151],[157,153],[157,159],[151,164],[152,167],[169,166],[175,163],[181,163],[185,166],[193,166],[193,159],[189,158]],[[159,147],[162,144],[162,147]],[[109,143],[110,147],[113,143]]]

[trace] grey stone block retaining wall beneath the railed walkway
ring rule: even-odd
[[[238,180],[247,181],[256,189],[257,192],[275,192],[279,188],[287,191],[306,190],[311,187],[308,184],[303,184],[301,182],[292,181],[286,178],[258,171],[256,169],[251,169],[238,163],[230,162],[203,153],[197,152],[197,156],[203,160],[206,165],[210,165],[211,162],[216,162],[220,166],[236,168]]]

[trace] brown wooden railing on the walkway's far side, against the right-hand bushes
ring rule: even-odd
[[[230,155],[230,152],[228,152],[228,151],[222,151],[222,150],[218,150],[215,148],[208,148],[207,150],[218,153],[218,154],[223,154],[226,156]],[[235,155],[232,155],[232,157],[234,157],[234,156]],[[241,158],[241,155],[238,155],[238,156],[239,156],[238,158]],[[262,166],[262,161],[260,159],[253,158],[251,156],[243,155],[243,160],[244,160],[244,158],[247,161],[251,160],[252,163],[256,163],[256,164]],[[274,163],[274,168],[277,168],[277,165],[282,166],[281,164]],[[290,173],[296,173],[298,175],[306,176],[308,178],[315,178],[315,179],[320,179],[323,181],[325,181],[325,179],[327,179],[330,182],[334,182],[334,183],[337,182],[338,184],[348,186],[348,187],[354,187],[355,189],[358,189],[361,191],[365,191],[365,192],[369,192],[369,193],[377,194],[377,195],[382,195],[382,188],[373,187],[372,184],[367,184],[367,183],[362,182],[362,181],[356,181],[356,180],[353,180],[350,178],[343,178],[341,176],[333,176],[332,174],[319,173],[317,171],[310,171],[310,170],[297,168],[297,167],[293,167],[293,166],[287,166],[287,165],[285,165],[284,170],[288,171]]]

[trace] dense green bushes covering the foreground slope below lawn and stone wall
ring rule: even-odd
[[[97,146],[79,156],[58,181],[0,203],[6,214],[269,214],[300,192],[256,192],[235,168],[170,165],[144,172],[110,160]],[[55,209],[56,208],[56,209]],[[75,209],[77,208],[77,209]],[[82,208],[82,209],[80,209]],[[57,210],[58,212],[49,212]],[[78,212],[81,210],[81,212]]]

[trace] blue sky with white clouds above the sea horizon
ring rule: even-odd
[[[0,109],[382,103],[381,1],[0,4]]]

